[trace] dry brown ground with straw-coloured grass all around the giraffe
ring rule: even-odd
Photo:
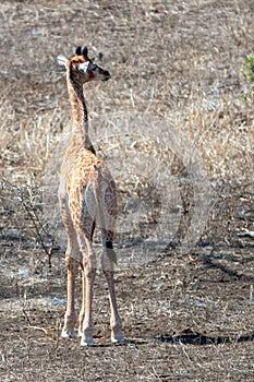
[[[254,112],[241,74],[253,1],[5,0],[0,11],[0,380],[254,381]],[[83,44],[112,75],[86,99],[119,192],[121,346],[100,270],[95,346],[60,337],[56,168],[71,124],[56,56]]]

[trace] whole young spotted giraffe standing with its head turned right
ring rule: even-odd
[[[75,56],[69,60],[60,56],[58,62],[66,69],[73,119],[72,135],[63,158],[59,187],[60,211],[68,235],[65,253],[68,305],[62,337],[75,336],[74,289],[76,268],[80,265],[83,274],[83,296],[78,334],[82,337],[82,346],[94,344],[92,301],[97,265],[93,250],[93,235],[95,227],[98,226],[102,237],[101,267],[108,283],[111,307],[111,341],[123,343],[122,323],[117,309],[113,282],[116,183],[105,163],[96,156],[89,140],[87,110],[83,94],[84,83],[106,81],[110,74],[92,62],[87,57],[87,48],[77,47]]]

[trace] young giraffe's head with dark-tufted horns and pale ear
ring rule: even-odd
[[[72,73],[72,76],[83,84],[89,81],[109,80],[111,77],[110,73],[96,63],[93,63],[87,55],[87,47],[77,47],[75,55],[70,59],[66,59],[64,56],[58,56],[57,60],[61,68]]]

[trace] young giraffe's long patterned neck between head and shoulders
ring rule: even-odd
[[[95,154],[94,146],[88,135],[88,114],[83,93],[83,85],[72,77],[71,71],[68,75],[68,88],[72,107],[72,138],[83,147],[92,151]]]

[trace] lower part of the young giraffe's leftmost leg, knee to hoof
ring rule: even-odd
[[[62,329],[63,338],[74,338],[74,327],[76,323],[76,313],[74,307],[74,290],[75,290],[75,276],[77,262],[71,258],[68,253],[65,255],[65,264],[68,270],[68,303],[64,315],[64,325]]]

